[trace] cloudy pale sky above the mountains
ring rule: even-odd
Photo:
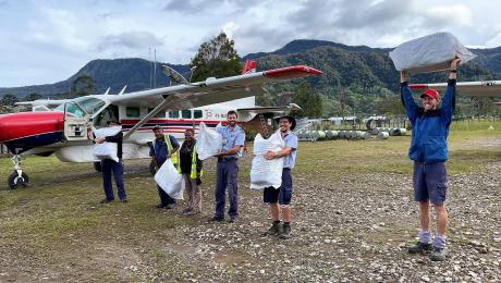
[[[220,30],[241,56],[293,39],[395,47],[450,32],[501,46],[499,0],[0,0],[0,87],[66,79],[93,59],[186,64]]]

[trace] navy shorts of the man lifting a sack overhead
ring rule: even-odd
[[[444,162],[414,162],[414,199],[442,205],[447,198],[447,171]]]

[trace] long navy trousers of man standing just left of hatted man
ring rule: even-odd
[[[224,218],[225,193],[230,199],[230,218],[239,216],[239,163],[237,159],[218,161],[216,184],[216,218]]]

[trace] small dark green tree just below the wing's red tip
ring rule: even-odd
[[[311,94],[307,82],[303,82],[297,87],[293,95],[294,103],[298,104],[302,109],[294,111],[296,116],[309,116],[319,118],[321,116],[321,96],[319,94]]]

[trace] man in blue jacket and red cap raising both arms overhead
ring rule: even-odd
[[[432,249],[430,259],[433,261],[444,260],[447,256],[447,138],[454,111],[456,70],[460,61],[454,59],[451,62],[448,88],[441,108],[437,108],[440,103],[440,94],[431,88],[421,94],[423,107],[418,107],[413,99],[405,72],[400,73],[401,98],[413,127],[408,157],[414,160],[414,198],[418,202],[420,223],[419,239],[416,245],[408,248],[408,253],[417,254]],[[437,213],[437,234],[433,244],[429,230],[429,202],[433,205]]]

